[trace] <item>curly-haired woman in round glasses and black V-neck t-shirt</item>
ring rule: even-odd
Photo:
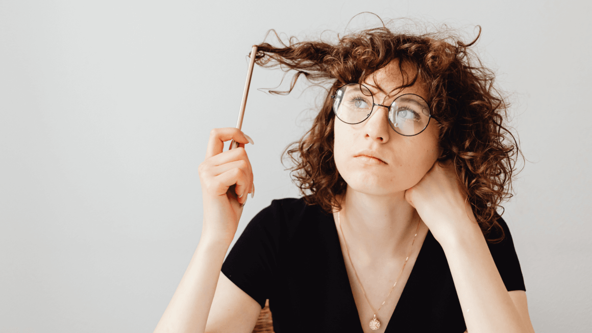
[[[519,150],[477,39],[382,27],[260,44],[260,66],[298,71],[291,89],[300,75],[330,85],[288,150],[304,196],[263,209],[223,263],[255,194],[253,140],[213,130],[201,240],[156,332],[250,332],[266,299],[282,333],[533,332],[496,212]],[[229,140],[240,147],[223,152]]]

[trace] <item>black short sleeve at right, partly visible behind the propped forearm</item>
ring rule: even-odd
[[[501,279],[506,285],[508,291],[525,290],[524,277],[520,269],[520,261],[514,248],[514,241],[510,234],[510,229],[503,218],[499,217],[497,222],[503,228],[505,237],[500,243],[487,243],[493,261],[495,261],[497,270],[500,272]],[[499,234],[492,234],[496,236]]]

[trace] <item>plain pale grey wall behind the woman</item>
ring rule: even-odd
[[[353,15],[446,22],[512,93],[525,169],[504,205],[536,332],[589,332],[590,2],[0,1],[0,332],[152,332],[201,232],[208,134],[233,127],[270,28]],[[350,28],[373,24],[356,18]],[[280,156],[314,116],[301,82],[255,68],[243,130],[256,195],[297,196]],[[287,82],[284,82],[284,86]],[[460,333],[460,332],[459,332]]]

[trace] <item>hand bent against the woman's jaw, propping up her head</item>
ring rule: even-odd
[[[455,241],[469,223],[477,223],[450,160],[436,161],[422,180],[405,192],[405,199],[440,244]]]

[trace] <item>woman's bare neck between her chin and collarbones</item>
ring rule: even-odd
[[[340,221],[352,254],[370,264],[407,256],[419,215],[405,192],[374,196],[348,186]]]

